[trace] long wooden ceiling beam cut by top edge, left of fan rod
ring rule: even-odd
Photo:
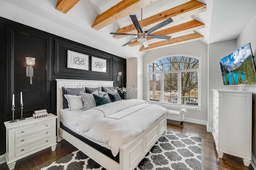
[[[96,17],[92,28],[99,30],[157,0],[122,0]]]

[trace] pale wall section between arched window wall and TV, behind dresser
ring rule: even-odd
[[[236,89],[224,86],[220,70],[220,59],[236,50],[236,40],[223,41],[208,45],[208,131],[213,127],[213,88]]]

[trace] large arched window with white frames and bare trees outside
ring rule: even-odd
[[[173,55],[148,64],[147,100],[200,108],[200,57]]]

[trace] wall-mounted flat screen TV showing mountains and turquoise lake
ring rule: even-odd
[[[220,59],[224,85],[256,85],[254,57],[250,43]]]

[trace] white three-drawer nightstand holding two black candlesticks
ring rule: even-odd
[[[14,169],[16,160],[51,147],[56,148],[56,115],[9,123],[6,127],[6,162],[10,170]]]

